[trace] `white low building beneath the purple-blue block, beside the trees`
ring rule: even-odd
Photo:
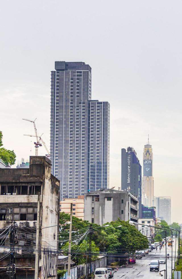
[[[154,240],[155,229],[145,225],[155,226],[154,219],[138,219],[138,223],[140,223],[140,225],[138,225],[138,230],[142,233],[142,235],[145,235],[148,238],[148,243],[150,245]]]

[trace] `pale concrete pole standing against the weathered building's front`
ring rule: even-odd
[[[35,256],[35,279],[39,274],[39,241],[40,241],[40,193],[37,202],[37,229],[36,229],[36,256]]]

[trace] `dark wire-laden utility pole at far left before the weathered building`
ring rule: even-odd
[[[16,265],[15,265],[15,234],[16,228],[18,227],[15,224],[15,221],[11,220],[11,227],[10,227],[10,247],[11,247],[11,258],[9,265],[7,266],[6,273],[9,274],[9,279],[16,279]]]

